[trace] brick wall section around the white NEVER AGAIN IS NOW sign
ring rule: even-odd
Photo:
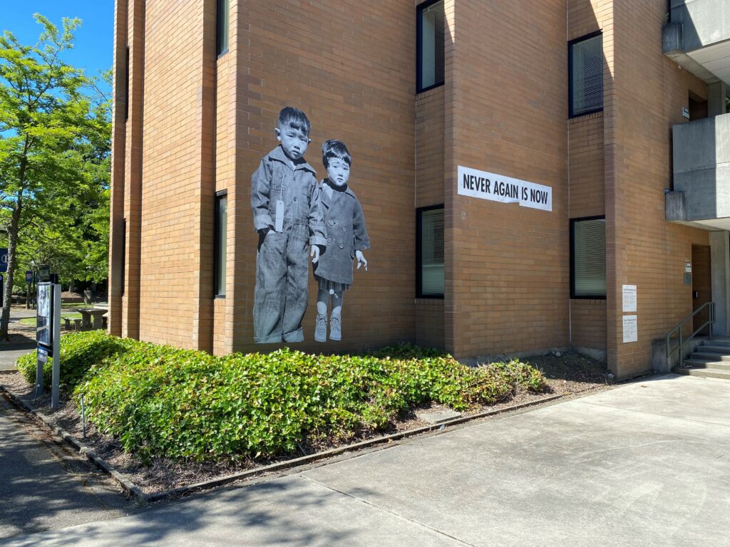
[[[564,1],[460,0],[447,39],[447,349],[568,343]],[[519,24],[505,24],[519,21]],[[535,36],[539,36],[536,47]],[[553,211],[456,195],[456,168],[552,187]],[[448,259],[447,259],[448,260]]]

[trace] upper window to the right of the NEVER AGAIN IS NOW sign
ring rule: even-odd
[[[570,116],[603,109],[603,37],[585,36],[568,44]]]

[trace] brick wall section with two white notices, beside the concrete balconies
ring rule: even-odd
[[[650,370],[651,341],[691,312],[683,284],[692,244],[708,233],[664,220],[672,124],[688,90],[704,85],[661,53],[666,2],[613,2],[612,59],[604,109],[607,163],[608,364],[619,377]],[[606,46],[604,42],[604,47]],[[623,344],[621,285],[636,284],[639,341]]]

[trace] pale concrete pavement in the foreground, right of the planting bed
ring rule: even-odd
[[[730,382],[664,376],[7,546],[728,546]]]

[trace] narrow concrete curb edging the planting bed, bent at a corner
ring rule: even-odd
[[[250,469],[224,477],[212,478],[210,480],[201,481],[195,484],[189,484],[188,486],[179,486],[177,488],[164,490],[163,492],[153,492],[152,494],[145,494],[145,492],[142,492],[142,489],[140,489],[137,484],[134,484],[133,482],[125,478],[106,460],[99,457],[99,455],[90,448],[88,448],[88,446],[83,445],[69,432],[66,432],[66,430],[61,429],[61,427],[54,425],[50,421],[50,419],[44,416],[37,408],[34,408],[30,404],[26,403],[26,401],[21,399],[20,396],[8,389],[7,386],[0,384],[0,392],[4,392],[5,394],[7,394],[8,397],[10,397],[13,403],[15,403],[17,406],[20,406],[20,408],[23,408],[23,410],[28,411],[28,413],[33,414],[37,419],[40,420],[40,422],[42,422],[42,424],[48,427],[48,429],[50,429],[54,435],[60,437],[61,439],[66,441],[66,443],[69,443],[69,445],[71,445],[75,450],[87,457],[94,465],[96,465],[97,468],[99,468],[104,473],[107,473],[107,475],[109,475],[110,477],[114,478],[115,481],[120,484],[122,489],[127,494],[134,496],[137,499],[138,503],[142,504],[166,500],[172,497],[180,497],[185,494],[200,492],[202,490],[215,488],[216,486],[224,486],[226,484],[231,484],[237,481],[243,481],[247,478],[265,475],[266,473],[276,473],[277,471],[288,470],[291,468],[299,468],[301,466],[317,462],[320,459],[327,459],[339,456],[350,451],[361,451],[363,449],[368,449],[383,443],[393,443],[393,441],[399,441],[401,439],[413,437],[415,435],[422,435],[429,432],[446,432],[448,430],[453,430],[456,426],[465,424],[466,422],[472,422],[474,420],[485,418],[487,416],[496,416],[497,414],[504,414],[506,412],[522,410],[523,408],[529,408],[531,406],[537,406],[543,403],[552,403],[560,399],[574,397],[575,395],[580,396],[580,394],[550,395],[548,397],[542,397],[537,400],[527,401],[526,403],[518,403],[516,405],[506,406],[504,408],[498,408],[495,410],[486,410],[469,416],[459,416],[458,418],[448,420],[447,422],[441,422],[439,424],[418,427],[413,430],[392,433],[391,435],[383,435],[382,437],[372,438],[366,441],[361,441],[359,443],[348,444],[346,446],[339,446],[337,448],[317,452],[315,454],[308,454],[307,456],[288,459],[284,462],[264,465],[260,468]],[[392,446],[397,445],[393,444]],[[356,455],[358,454],[352,454],[352,457],[356,457]]]

